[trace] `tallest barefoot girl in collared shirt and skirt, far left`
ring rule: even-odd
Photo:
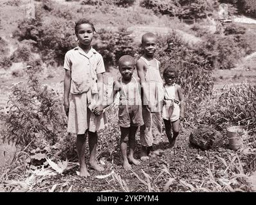
[[[64,110],[68,116],[68,133],[77,134],[77,154],[80,176],[90,176],[85,163],[85,146],[88,135],[89,163],[98,171],[104,170],[96,163],[98,136],[96,131],[102,126],[103,73],[104,61],[91,47],[95,28],[86,19],[75,24],[78,46],[65,55],[64,69]],[[70,101],[69,101],[70,93]],[[97,109],[98,116],[93,111]]]

